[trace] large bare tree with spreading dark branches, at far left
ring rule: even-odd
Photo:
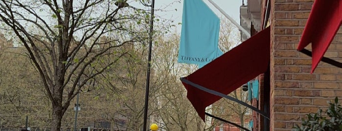
[[[2,28],[26,48],[51,102],[51,131],[82,87],[126,54],[116,47],[146,38],[137,29],[145,15],[127,0],[0,0]]]

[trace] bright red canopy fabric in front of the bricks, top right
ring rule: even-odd
[[[342,23],[342,0],[315,0],[297,50],[312,43],[311,73],[322,59]]]

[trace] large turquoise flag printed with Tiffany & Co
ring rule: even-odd
[[[203,0],[184,0],[178,62],[205,65],[217,57],[220,19]]]

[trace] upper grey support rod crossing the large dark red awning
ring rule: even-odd
[[[218,92],[218,91],[211,90],[211,89],[208,89],[208,88],[206,88],[206,87],[202,87],[202,86],[200,86],[200,85],[198,85],[198,84],[195,84],[195,83],[193,83],[193,82],[190,82],[189,80],[186,80],[186,79],[184,79],[184,78],[180,78],[180,79],[181,79],[182,82],[184,82],[184,83],[186,83],[186,84],[189,84],[189,85],[191,85],[191,86],[193,86],[193,87],[196,87],[196,88],[198,88],[198,89],[201,89],[201,90],[203,90],[203,91],[205,91],[205,92],[208,92],[208,93],[210,93],[210,94],[217,95],[217,96],[220,96],[220,97],[223,97],[223,98],[227,98],[227,99],[229,99],[229,100],[231,100],[231,101],[237,102],[237,103],[239,103],[239,104],[241,104],[241,105],[243,105],[243,106],[245,106],[245,107],[247,107],[247,108],[250,108],[250,109],[252,109],[252,110],[258,112],[260,115],[264,116],[265,118],[270,119],[270,117],[269,117],[265,112],[263,112],[263,111],[261,111],[261,110],[255,108],[255,107],[253,107],[253,106],[251,106],[251,105],[248,105],[247,103],[245,103],[245,102],[243,102],[243,101],[240,101],[240,100],[235,99],[235,98],[233,98],[233,97],[231,97],[231,96],[228,96],[228,95],[225,95],[225,94],[223,94],[223,93],[220,93],[220,92]]]

